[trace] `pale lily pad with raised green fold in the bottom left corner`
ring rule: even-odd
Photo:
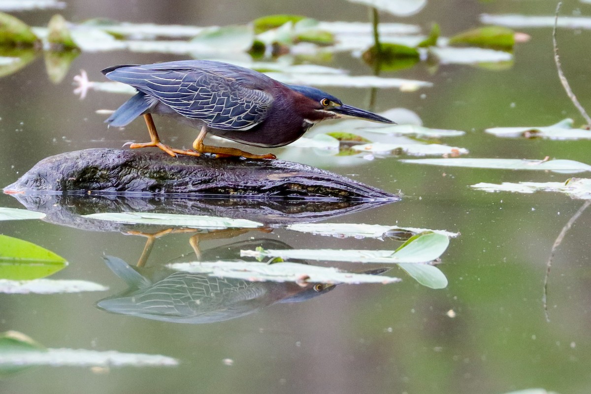
[[[119,353],[84,349],[46,349],[17,331],[0,336],[0,371],[27,366],[175,366],[176,359],[160,354]]]

